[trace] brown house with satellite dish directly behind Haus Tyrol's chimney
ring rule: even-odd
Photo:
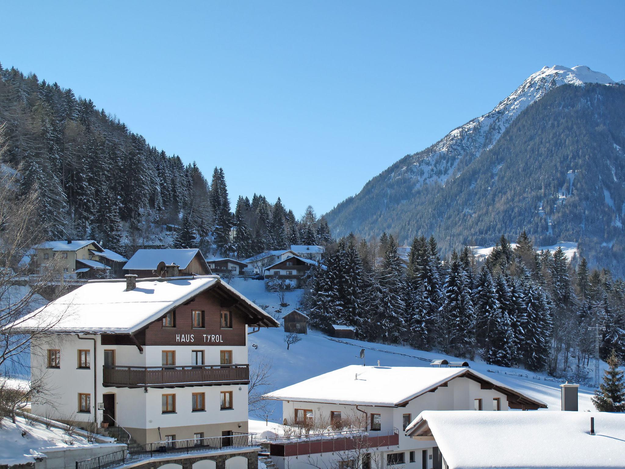
[[[211,269],[199,249],[140,249],[124,265],[139,278],[161,277],[165,266],[178,266],[179,275],[210,275]]]

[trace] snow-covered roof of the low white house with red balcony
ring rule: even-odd
[[[265,397],[276,400],[394,407],[461,376],[492,383],[501,392],[520,396],[534,405],[547,406],[542,401],[523,395],[469,368],[418,366],[349,365],[273,391]]]

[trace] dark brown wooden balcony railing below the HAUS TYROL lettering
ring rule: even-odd
[[[246,385],[249,365],[104,366],[103,386]]]

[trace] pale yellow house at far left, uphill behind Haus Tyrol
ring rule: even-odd
[[[35,248],[32,261],[41,271],[54,259],[67,278],[108,278],[121,273],[124,256],[94,240],[46,241]]]

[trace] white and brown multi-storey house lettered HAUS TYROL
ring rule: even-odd
[[[32,403],[36,415],[121,427],[142,445],[228,446],[247,433],[247,328],[278,323],[219,276],[128,275],[90,281],[19,328],[42,325],[31,372],[54,397]]]

